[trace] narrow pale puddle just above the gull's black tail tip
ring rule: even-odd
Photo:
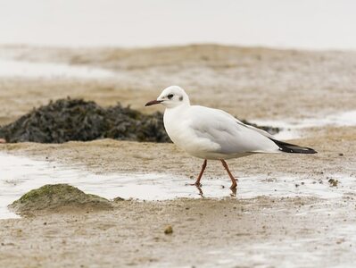
[[[280,128],[276,135],[279,139],[292,139],[300,138],[301,130],[324,127],[329,125],[351,127],[356,126],[356,110],[348,111],[344,113],[328,114],[319,118],[307,118],[303,120],[286,119],[285,121],[273,121],[273,120],[251,120],[252,123],[261,126],[271,126]]]

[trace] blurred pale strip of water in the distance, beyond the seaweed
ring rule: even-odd
[[[115,73],[87,66],[0,59],[0,77],[108,79],[115,77]]]

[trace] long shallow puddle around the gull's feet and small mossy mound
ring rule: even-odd
[[[114,197],[139,200],[167,200],[178,197],[201,198],[199,189],[186,185],[192,183],[183,176],[170,174],[95,174],[85,167],[72,168],[62,164],[32,160],[23,156],[0,153],[0,218],[16,217],[7,205],[30,189],[45,184],[68,183],[86,193],[112,199]],[[325,180],[320,183],[310,178],[293,176],[267,177],[266,175],[239,178],[237,198],[269,197],[321,197],[337,198],[344,194],[356,194],[356,180],[335,174],[337,188],[331,188]],[[204,177],[203,197],[230,197],[228,176]]]

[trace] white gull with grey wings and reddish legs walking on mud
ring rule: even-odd
[[[194,184],[200,188],[208,160],[219,160],[232,182],[231,189],[237,187],[236,178],[225,161],[253,154],[294,153],[316,154],[309,147],[300,147],[277,140],[264,130],[260,130],[222,110],[200,105],[190,105],[186,91],[178,86],[163,89],[157,99],[145,106],[164,105],[164,128],[168,136],[187,154],[203,159],[202,170]]]

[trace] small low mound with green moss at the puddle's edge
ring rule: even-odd
[[[68,184],[47,184],[30,190],[9,208],[16,214],[31,215],[38,212],[65,212],[72,210],[107,210],[112,203],[95,195],[89,195]]]

